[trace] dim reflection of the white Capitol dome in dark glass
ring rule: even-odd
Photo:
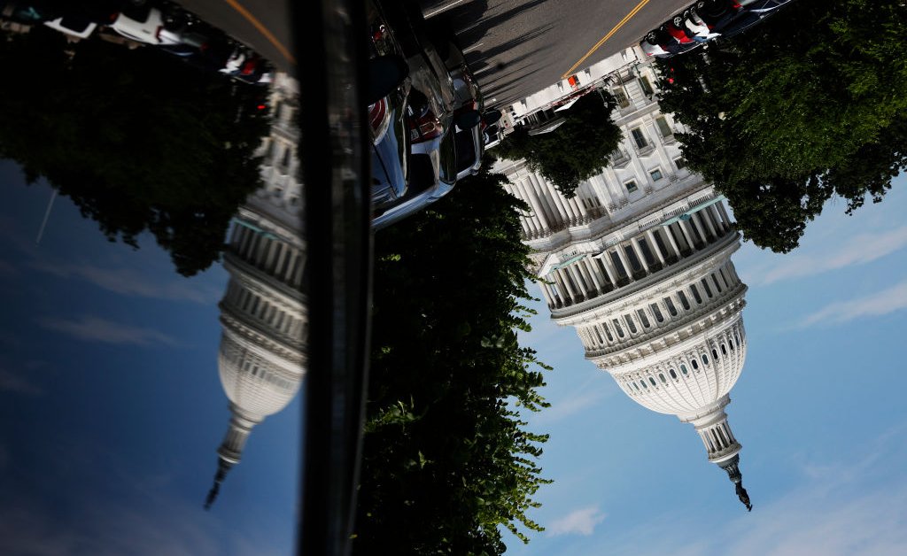
[[[306,249],[301,185],[294,177],[297,138],[289,125],[292,86],[282,79],[274,86],[275,120],[261,148],[265,187],[239,209],[224,254],[230,278],[219,306],[218,369],[231,417],[206,507],[229,468],[239,463],[252,427],[289,404],[305,373]]]

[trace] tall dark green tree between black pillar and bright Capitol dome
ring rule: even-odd
[[[375,235],[373,352],[358,493],[360,554],[500,554],[501,527],[542,483],[547,435],[518,409],[548,404],[522,306],[528,250],[503,177],[462,180],[430,209]],[[518,407],[519,406],[519,407]]]

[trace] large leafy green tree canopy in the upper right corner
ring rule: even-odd
[[[903,3],[797,0],[745,34],[659,63],[660,105],[746,239],[786,252],[826,200],[878,202],[907,168]]]

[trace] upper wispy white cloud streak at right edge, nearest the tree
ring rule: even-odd
[[[907,247],[907,226],[873,234],[859,234],[834,243],[821,253],[795,252],[780,258],[769,268],[753,272],[752,281],[772,284],[781,280],[804,278],[837,268],[863,265]],[[747,279],[751,279],[747,277]]]

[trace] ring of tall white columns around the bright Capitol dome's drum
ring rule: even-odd
[[[642,233],[555,268],[541,283],[549,308],[569,307],[645,278],[732,231],[731,220],[717,202],[692,213],[689,220],[646,229]]]

